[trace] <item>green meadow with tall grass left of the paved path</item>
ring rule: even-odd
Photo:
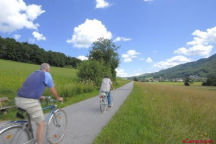
[[[39,65],[0,59],[0,97],[8,97],[10,100],[13,100],[25,79],[38,69]],[[64,97],[64,104],[59,104],[58,107],[64,107],[98,95],[99,88],[95,87],[94,82],[81,82],[77,77],[76,69],[51,66],[50,73],[58,94]],[[117,81],[114,82],[114,87],[118,88],[128,82],[127,80],[117,78]],[[46,89],[43,95],[51,94]],[[6,104],[4,103],[4,106]],[[15,111],[10,109],[6,115],[0,114],[0,120],[14,118]]]

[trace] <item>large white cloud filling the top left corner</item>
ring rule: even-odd
[[[0,0],[0,32],[14,32],[22,28],[35,29],[34,20],[45,11],[40,5],[26,5],[23,0]]]

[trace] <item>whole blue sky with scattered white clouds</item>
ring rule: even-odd
[[[117,46],[117,76],[157,72],[216,52],[216,0],[0,0],[0,36],[85,60]]]

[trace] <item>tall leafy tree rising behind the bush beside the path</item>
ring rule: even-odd
[[[116,46],[111,40],[99,38],[93,43],[89,51],[89,60],[104,61],[104,64],[110,68],[112,80],[116,80],[115,69],[119,65],[119,55],[117,50],[120,46]],[[109,72],[108,72],[109,73]]]

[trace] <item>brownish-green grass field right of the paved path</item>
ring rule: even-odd
[[[216,88],[134,83],[94,144],[180,144],[216,141]]]

